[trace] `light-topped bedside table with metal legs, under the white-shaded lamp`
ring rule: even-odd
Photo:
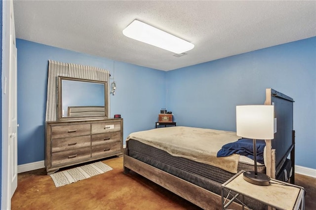
[[[278,210],[304,210],[305,189],[303,187],[276,179],[271,179],[271,184],[268,186],[255,185],[243,179],[243,172],[240,171],[222,184],[223,210],[226,210],[235,199],[243,202],[244,196]],[[228,193],[226,198],[224,198],[225,192]],[[232,192],[235,193],[232,194]],[[242,208],[244,207],[248,208],[243,204]]]

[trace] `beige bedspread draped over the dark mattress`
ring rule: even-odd
[[[236,136],[236,132],[174,126],[134,132],[126,140],[129,139],[149,144],[173,156],[237,173],[238,154],[216,157],[224,144],[240,139]]]

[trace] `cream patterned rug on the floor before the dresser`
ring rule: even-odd
[[[57,172],[50,175],[50,177],[53,179],[55,186],[60,187],[111,170],[113,169],[110,166],[102,162],[96,162],[74,169]]]

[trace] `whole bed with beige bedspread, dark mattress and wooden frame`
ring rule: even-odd
[[[291,183],[294,183],[295,164],[293,102],[282,93],[266,89],[265,105],[275,106],[277,132],[274,140],[265,140],[264,164],[258,166],[258,172],[276,178],[282,173],[283,166],[288,165],[290,156]],[[229,138],[221,139],[222,145],[212,141],[214,148],[203,148],[192,142],[179,145],[179,141],[186,142],[186,138],[205,141],[213,133],[215,136],[227,135],[226,131],[181,126],[132,133],[126,140],[124,173],[132,170],[202,209],[221,207],[221,184],[240,170],[253,171],[253,161],[251,163],[249,158],[237,154],[225,158],[213,157],[213,153],[224,144],[235,141],[235,132],[228,132]],[[194,150],[197,153],[192,152]],[[253,209],[267,208],[250,199],[246,199],[245,203]]]

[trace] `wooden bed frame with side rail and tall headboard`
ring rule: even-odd
[[[271,178],[276,178],[290,155],[292,162],[291,183],[294,183],[295,173],[293,102],[292,98],[282,93],[273,89],[266,89],[265,105],[275,105],[275,117],[277,118],[275,139],[266,140],[266,174]],[[128,148],[128,142],[126,142],[126,147]],[[132,158],[128,156],[128,149],[125,149],[123,158],[125,174],[132,170],[205,210],[216,209],[222,205],[220,195]],[[234,209],[240,208],[237,203],[233,205],[235,205],[232,206]]]

